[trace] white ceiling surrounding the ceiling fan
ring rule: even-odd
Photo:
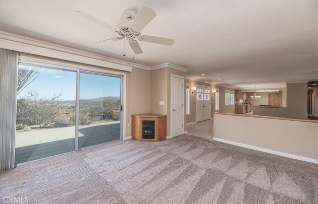
[[[135,55],[125,40],[93,45],[118,34],[76,14],[116,27],[125,9],[144,5],[157,16],[142,34],[172,46],[139,41],[144,53]],[[318,0],[0,0],[0,30],[150,67],[171,63],[232,88],[318,80]]]

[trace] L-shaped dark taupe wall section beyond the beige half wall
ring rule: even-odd
[[[287,83],[287,108],[253,107],[253,115],[307,119],[307,82]]]

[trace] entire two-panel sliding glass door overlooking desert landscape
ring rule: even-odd
[[[15,164],[120,139],[121,84],[117,75],[19,64]]]

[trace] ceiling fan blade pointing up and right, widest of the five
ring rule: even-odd
[[[144,6],[139,11],[135,20],[131,24],[130,28],[137,33],[140,33],[142,29],[156,17],[156,12],[151,7]]]

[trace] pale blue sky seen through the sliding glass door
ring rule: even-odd
[[[19,65],[19,68],[34,68]],[[76,100],[76,71],[39,68],[40,74],[18,94],[18,99],[35,91],[39,97],[51,98],[61,93],[60,100]],[[121,78],[92,73],[80,73],[79,99],[120,96]]]

